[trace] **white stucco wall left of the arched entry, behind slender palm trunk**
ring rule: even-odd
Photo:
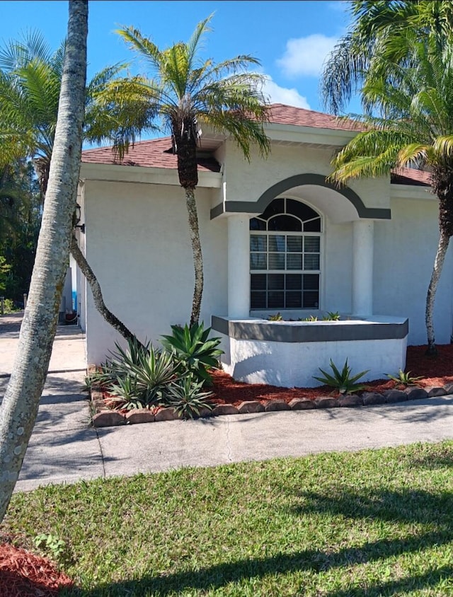
[[[205,262],[202,320],[226,313],[226,221],[210,221],[210,190],[197,190]],[[86,257],[106,305],[141,340],[157,340],[190,318],[193,260],[180,187],[87,180]],[[88,363],[99,363],[120,336],[86,292]]]

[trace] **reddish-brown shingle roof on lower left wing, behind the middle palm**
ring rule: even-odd
[[[130,146],[122,161],[115,158],[112,146],[85,149],[82,151],[82,163],[121,164],[122,166],[143,166],[144,168],[177,168],[177,158],[171,153],[171,137],[138,141]],[[198,170],[220,172],[220,166],[214,158],[198,158]]]

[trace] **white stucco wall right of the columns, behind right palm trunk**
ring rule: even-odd
[[[374,224],[374,313],[409,318],[409,344],[426,344],[425,299],[439,228],[435,199],[392,199],[391,220]],[[452,254],[435,301],[437,344],[452,333]]]

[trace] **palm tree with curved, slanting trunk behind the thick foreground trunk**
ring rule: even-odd
[[[19,157],[33,159],[42,198],[49,178],[55,143],[59,91],[63,74],[63,43],[52,53],[42,35],[31,33],[0,51],[0,166]],[[127,134],[127,114],[101,111],[96,95],[122,69],[117,64],[96,74],[86,88],[84,139],[100,143]],[[134,337],[106,306],[96,275],[86,262],[73,233],[71,253],[85,275],[94,303],[103,318],[126,339]]]

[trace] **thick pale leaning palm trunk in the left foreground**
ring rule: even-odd
[[[88,0],[69,1],[47,198],[13,373],[0,407],[0,522],[33,431],[57,328],[79,179],[87,33]]]

